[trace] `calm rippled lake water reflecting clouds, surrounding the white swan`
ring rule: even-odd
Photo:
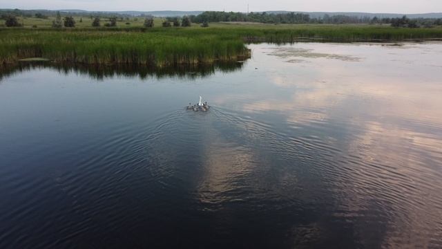
[[[442,43],[393,45],[9,68],[0,248],[442,248]]]

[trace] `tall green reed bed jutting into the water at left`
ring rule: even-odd
[[[213,35],[78,30],[1,30],[0,63],[27,57],[84,64],[212,64],[249,56],[241,39]]]

